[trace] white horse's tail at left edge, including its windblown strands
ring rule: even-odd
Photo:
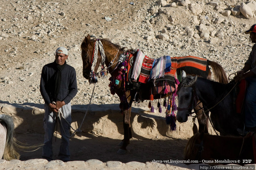
[[[3,159],[4,160],[13,160],[13,159],[19,159],[20,154],[17,152],[17,149],[19,150],[30,150],[34,149],[37,150],[39,149],[40,145],[33,145],[33,146],[25,146],[26,144],[19,142],[15,138],[15,131],[14,131],[14,123],[13,119],[11,116],[5,115],[5,114],[0,114],[0,121],[4,122],[4,126],[6,128],[6,143],[5,143],[5,150],[3,154]],[[32,151],[34,151],[32,150]],[[23,150],[24,151],[24,150]],[[31,151],[28,151],[31,152]]]

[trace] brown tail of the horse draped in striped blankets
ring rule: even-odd
[[[212,71],[217,82],[227,84],[228,77],[223,67],[215,61],[208,60],[209,65],[212,67]]]

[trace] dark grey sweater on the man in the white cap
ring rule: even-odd
[[[42,69],[40,80],[40,92],[47,105],[55,101],[55,74],[57,71],[57,64],[55,62],[46,64]],[[69,103],[77,94],[77,77],[75,69],[66,65],[61,71],[61,85],[57,98],[64,101],[65,104]]]

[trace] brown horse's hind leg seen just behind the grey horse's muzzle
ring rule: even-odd
[[[196,115],[197,115],[197,121],[199,124],[199,128],[198,131],[200,132],[205,132],[208,133],[208,116],[204,113],[203,108],[203,104],[199,103],[200,101],[198,101],[197,106],[195,106],[194,110],[197,111]],[[209,113],[208,113],[209,114]]]

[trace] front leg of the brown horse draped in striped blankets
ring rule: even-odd
[[[123,109],[123,130],[124,130],[124,138],[122,142],[119,144],[121,148],[117,151],[118,154],[126,154],[127,153],[127,145],[130,144],[130,139],[132,138],[131,132],[131,104],[132,101],[131,96],[126,92],[127,102],[129,103],[129,109]]]

